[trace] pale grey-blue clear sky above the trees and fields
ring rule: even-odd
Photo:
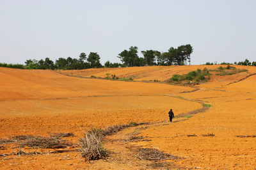
[[[255,0],[0,0],[0,63],[79,58],[122,63],[131,46],[190,44],[191,65],[256,61]]]

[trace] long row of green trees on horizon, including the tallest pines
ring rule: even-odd
[[[193,47],[190,44],[180,45],[177,49],[170,47],[168,52],[159,52],[158,50],[141,50],[143,58],[138,56],[138,47],[131,46],[129,50],[124,50],[118,54],[122,63],[110,63],[106,61],[104,65],[100,63],[100,56],[97,52],[90,52],[87,57],[84,52],[79,55],[79,58],[58,58],[52,61],[50,58],[27,59],[26,65],[12,65],[0,63],[0,66],[9,68],[26,68],[26,69],[65,69],[65,70],[81,70],[86,68],[116,68],[124,66],[154,66],[154,65],[190,65],[190,55],[193,52]]]

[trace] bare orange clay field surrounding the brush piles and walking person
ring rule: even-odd
[[[109,136],[108,140],[112,142],[105,143],[106,148],[117,156],[112,154],[108,160],[90,163],[84,162],[78,151],[50,153],[54,149],[28,146],[22,148],[26,153],[48,154],[4,156],[18,148],[13,147],[15,144],[0,143],[0,169],[152,169],[152,163],[143,162],[129,149],[137,146],[157,148],[180,157],[164,161],[172,163],[172,167],[176,167],[173,169],[255,169],[256,137],[236,136],[256,135],[255,66],[236,66],[248,72],[212,75],[209,82],[193,87],[159,83],[176,73],[220,66],[223,65],[58,71],[0,68],[1,139],[15,135],[48,137],[49,133],[73,132],[75,137],[68,137],[68,141],[77,143],[79,137],[83,137],[83,130],[91,126],[106,128],[131,121],[150,122],[140,127],[138,134],[150,140],[118,141],[138,131],[127,128]],[[134,81],[90,78],[92,75],[104,78],[114,74],[119,78],[132,77]],[[174,118],[173,123],[168,121],[170,109],[178,117],[180,113],[202,108],[202,103],[211,105],[208,111],[190,118]],[[145,126],[147,128],[143,128]],[[205,134],[214,136],[205,137]]]

